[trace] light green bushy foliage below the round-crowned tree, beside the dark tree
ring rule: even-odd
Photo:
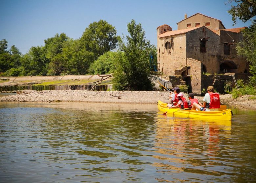
[[[106,52],[94,61],[89,68],[90,74],[110,74],[115,70],[114,63],[118,57],[117,52]]]

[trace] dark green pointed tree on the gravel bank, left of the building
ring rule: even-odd
[[[116,90],[151,90],[149,55],[152,45],[145,38],[145,31],[141,24],[134,20],[127,24],[130,36],[126,36],[127,43],[120,41],[113,86]]]

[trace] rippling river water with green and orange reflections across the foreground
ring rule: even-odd
[[[174,118],[156,105],[0,103],[1,182],[253,182],[255,112]]]

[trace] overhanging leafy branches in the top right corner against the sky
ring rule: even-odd
[[[256,15],[256,1],[255,0],[229,0],[235,2],[236,6],[231,5],[231,9],[227,12],[232,16],[236,25],[237,19],[242,22],[247,22]]]

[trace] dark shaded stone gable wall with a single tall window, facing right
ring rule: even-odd
[[[219,46],[220,36],[206,27],[186,33],[186,56],[203,63],[206,71],[214,74],[219,73]],[[200,52],[200,38],[206,38],[206,52]]]

